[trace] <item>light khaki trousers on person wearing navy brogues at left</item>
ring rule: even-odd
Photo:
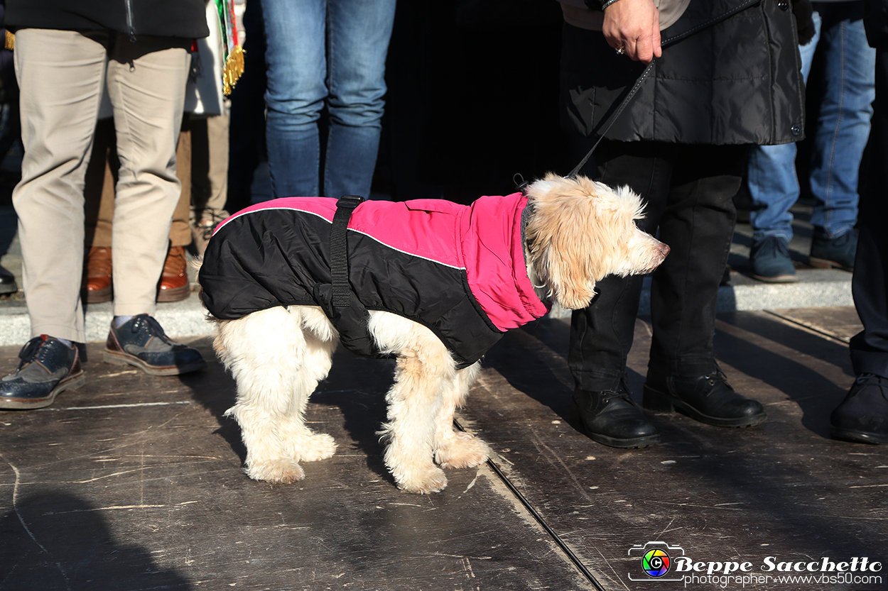
[[[102,87],[117,152],[115,315],[155,312],[180,185],[176,142],[190,67],[186,39],[20,29],[15,70],[25,156],[12,203],[19,217],[31,334],[85,339],[83,177]]]

